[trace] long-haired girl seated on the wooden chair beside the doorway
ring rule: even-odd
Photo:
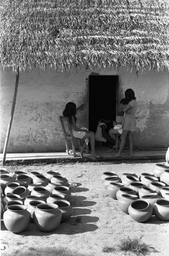
[[[95,151],[95,134],[93,132],[86,130],[86,128],[81,129],[81,128],[77,127],[77,125],[76,125],[76,110],[77,110],[76,104],[74,102],[68,102],[66,104],[65,110],[63,111],[63,115],[66,117],[69,117],[69,121],[70,121],[70,124],[72,127],[73,136],[78,139],[89,138],[90,143],[91,143],[91,156],[95,157],[95,158],[100,158],[101,156],[99,154],[97,154]],[[80,147],[81,154],[83,153],[85,148],[86,148],[86,143],[84,143]]]

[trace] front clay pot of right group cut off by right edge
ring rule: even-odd
[[[153,205],[155,216],[162,221],[169,220],[169,201],[166,199],[158,199]]]

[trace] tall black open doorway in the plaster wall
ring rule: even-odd
[[[89,76],[89,131],[103,118],[116,120],[117,84],[118,76]]]

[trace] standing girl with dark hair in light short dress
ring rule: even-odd
[[[135,100],[135,94],[132,89],[127,89],[125,91],[125,99],[127,101],[127,106],[123,109],[125,112],[125,116],[122,122],[122,135],[121,135],[121,144],[120,149],[116,157],[122,156],[122,151],[126,142],[126,137],[128,135],[129,140],[129,155],[133,156],[133,139],[132,139],[132,132],[136,131],[135,125],[135,111],[137,109],[137,102]]]

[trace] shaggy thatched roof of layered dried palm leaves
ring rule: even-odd
[[[168,0],[1,2],[3,68],[169,68]]]

